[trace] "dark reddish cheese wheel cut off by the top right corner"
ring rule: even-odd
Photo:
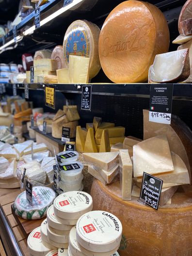
[[[192,29],[192,0],[187,0],[183,5],[178,18],[178,31],[181,35],[189,35]]]

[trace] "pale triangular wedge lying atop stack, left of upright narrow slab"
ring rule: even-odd
[[[87,163],[107,172],[119,162],[118,156],[118,152],[83,153],[83,158]]]

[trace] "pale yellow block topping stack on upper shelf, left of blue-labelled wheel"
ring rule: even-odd
[[[51,59],[37,59],[33,61],[34,70],[36,71],[56,71],[57,61]]]

